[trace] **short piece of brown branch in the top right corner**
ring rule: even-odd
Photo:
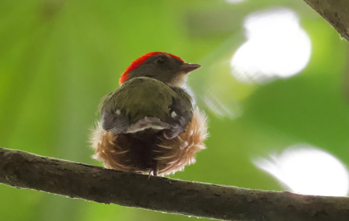
[[[348,0],[304,0],[321,15],[335,30],[349,41]]]

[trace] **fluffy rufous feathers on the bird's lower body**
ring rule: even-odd
[[[104,161],[106,168],[113,168],[121,171],[136,173],[149,173],[151,168],[142,168],[140,158],[134,156],[138,153],[151,155],[157,161],[157,175],[167,175],[176,171],[182,171],[186,165],[195,163],[196,152],[205,149],[203,141],[207,137],[207,117],[205,113],[196,108],[193,112],[191,122],[173,139],[165,139],[161,135],[157,140],[156,148],[140,151],[132,148],[132,145],[125,145],[124,134],[113,134],[105,131],[101,124],[98,124],[91,136],[92,148],[95,150],[94,159]],[[126,140],[125,140],[126,141]],[[178,148],[176,148],[178,147]]]

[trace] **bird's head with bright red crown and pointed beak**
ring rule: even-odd
[[[134,60],[121,74],[122,85],[136,77],[149,77],[171,86],[184,86],[189,72],[200,68],[198,64],[185,63],[180,57],[165,52],[149,52]]]

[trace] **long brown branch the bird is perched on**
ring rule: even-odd
[[[174,180],[0,148],[0,183],[221,220],[349,220],[349,198]]]

